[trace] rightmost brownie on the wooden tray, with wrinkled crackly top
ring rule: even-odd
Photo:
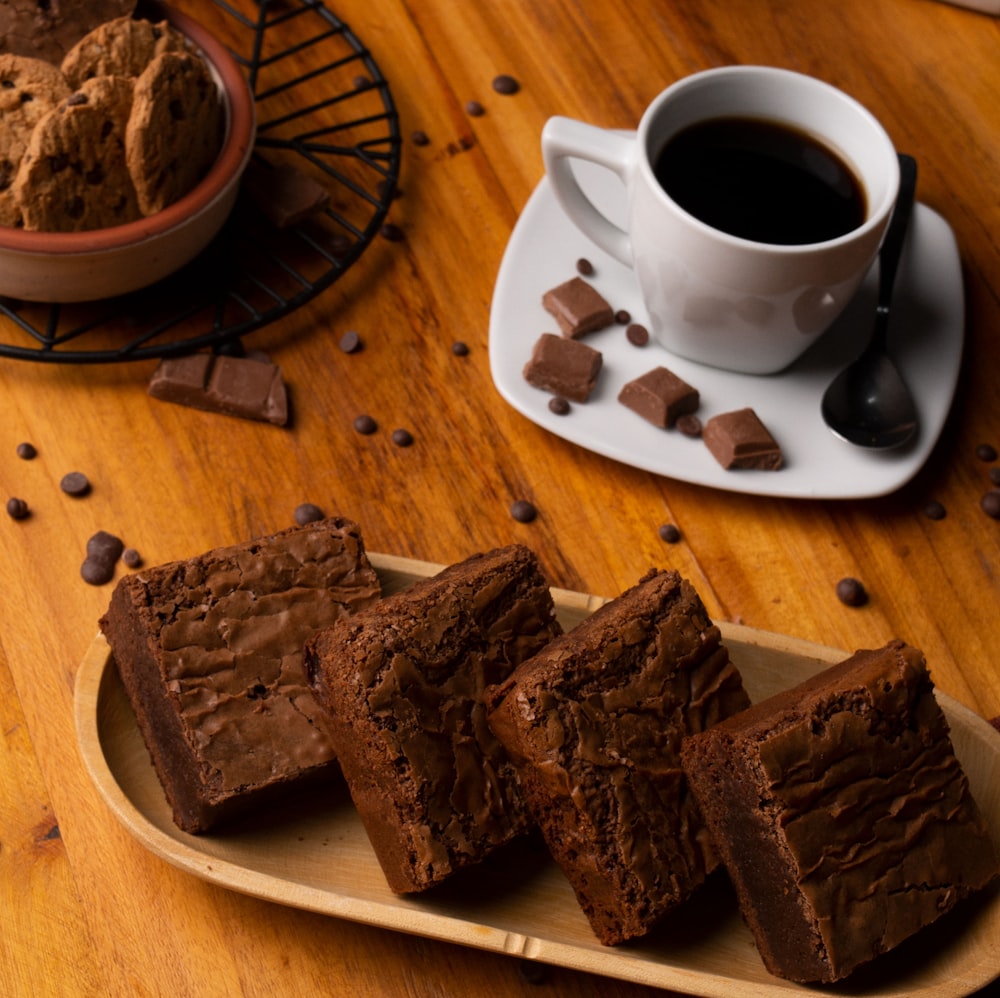
[[[694,736],[681,758],[778,977],[840,980],[997,874],[924,657],[901,641]]]

